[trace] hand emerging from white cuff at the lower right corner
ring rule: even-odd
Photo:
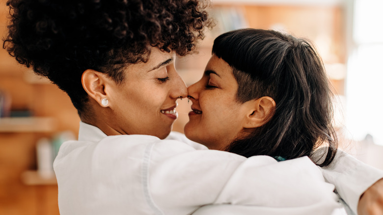
[[[383,179],[361,195],[357,210],[358,215],[383,215]]]

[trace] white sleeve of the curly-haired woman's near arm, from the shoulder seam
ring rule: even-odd
[[[163,214],[190,214],[207,204],[298,207],[325,201],[329,210],[338,206],[334,186],[307,157],[281,162],[268,156],[246,159],[216,150],[182,152],[174,144],[182,143],[156,143],[148,167],[148,193]]]

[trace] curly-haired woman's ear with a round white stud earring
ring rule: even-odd
[[[103,100],[108,99],[106,85],[109,82],[107,75],[97,72],[95,70],[87,69],[82,73],[81,83],[86,93],[94,99],[101,107],[108,107],[103,105]]]

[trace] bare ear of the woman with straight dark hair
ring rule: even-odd
[[[275,101],[269,96],[249,101],[250,108],[244,128],[258,128],[266,124],[274,114]]]

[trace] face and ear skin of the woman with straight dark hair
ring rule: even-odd
[[[231,67],[213,54],[201,80],[188,87],[192,101],[185,135],[209,149],[224,150],[233,139],[263,125],[275,102],[262,97],[240,103]]]

